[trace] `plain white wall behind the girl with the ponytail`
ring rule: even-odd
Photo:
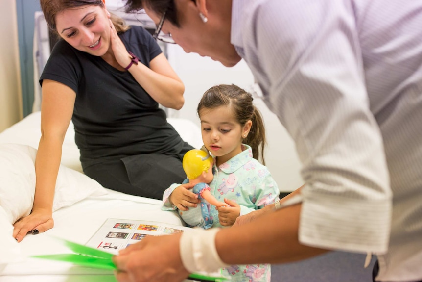
[[[252,91],[254,77],[242,60],[233,68],[226,68],[220,62],[195,53],[185,53],[177,45],[168,45],[167,54],[170,64],[185,83],[185,105],[180,111],[171,110],[172,117],[187,118],[197,123],[199,118],[196,107],[202,94],[215,84],[234,83],[239,87]],[[278,118],[266,105],[254,99],[255,105],[264,118],[267,147],[265,162],[279,188],[283,192],[291,192],[303,184],[300,177],[300,162],[292,139],[281,126]]]

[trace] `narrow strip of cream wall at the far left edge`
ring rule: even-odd
[[[15,0],[0,9],[0,132],[22,118],[18,24]]]

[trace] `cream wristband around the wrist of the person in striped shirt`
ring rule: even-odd
[[[185,231],[180,238],[180,257],[183,266],[190,272],[215,272],[228,266],[218,256],[215,248],[215,235],[220,228],[203,230],[195,228]]]

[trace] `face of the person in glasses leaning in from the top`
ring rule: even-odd
[[[162,32],[171,34],[173,40],[187,53],[195,52],[221,62],[227,67],[233,67],[240,61],[234,46],[230,43],[230,21],[222,23],[219,15],[208,15],[208,22],[203,23],[195,2],[191,0],[175,0],[175,6],[180,27],[172,25],[164,18]],[[145,12],[159,24],[162,15],[156,14],[148,7]]]

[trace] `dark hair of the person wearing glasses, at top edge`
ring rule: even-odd
[[[126,1],[126,12],[136,13],[144,7],[154,11],[157,15],[163,15],[165,12],[165,19],[173,26],[180,27],[179,19],[177,18],[176,6],[174,0],[124,0]]]

